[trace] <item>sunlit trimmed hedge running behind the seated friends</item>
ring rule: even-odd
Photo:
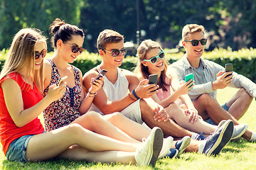
[[[183,52],[168,53],[168,49],[165,49],[165,51],[166,60],[170,64],[180,59],[184,55]],[[4,61],[8,54],[7,52],[8,50],[0,51],[0,67],[4,65]],[[51,57],[52,55],[53,52],[49,52],[47,57]],[[256,49],[243,48],[238,51],[233,51],[231,50],[231,48],[228,48],[228,50],[225,50],[223,48],[216,48],[211,52],[204,52],[203,58],[216,62],[222,65],[223,67],[225,66],[226,63],[232,62],[234,65],[235,72],[237,72],[238,74],[242,74],[248,79],[251,79],[252,81],[256,82]],[[101,61],[102,58],[100,57],[100,55],[85,50],[85,52],[83,52],[82,55],[80,55],[78,59],[75,60],[75,62],[73,62],[73,65],[81,69],[82,74],[85,74],[85,72],[100,64]],[[122,63],[121,68],[134,71],[137,62],[137,57],[127,56],[124,58],[124,62]]]

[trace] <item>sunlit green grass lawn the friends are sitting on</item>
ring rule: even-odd
[[[218,91],[218,101],[223,104],[237,89],[228,88]],[[247,113],[240,123],[247,123],[251,130],[256,130],[256,103],[252,101]],[[160,159],[154,169],[256,169],[256,143],[246,140],[230,142],[216,157],[206,157],[203,154],[185,153],[180,159]],[[40,154],[40,153],[38,153]],[[138,167],[123,164],[96,164],[72,160],[50,160],[38,163],[9,162],[0,152],[0,169],[153,169],[150,166]]]

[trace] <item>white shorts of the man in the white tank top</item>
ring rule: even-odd
[[[134,122],[142,124],[142,112],[140,110],[139,101],[140,100],[134,101],[134,103],[124,108],[124,110],[122,110],[120,113],[122,113],[122,115],[125,117],[134,120]]]

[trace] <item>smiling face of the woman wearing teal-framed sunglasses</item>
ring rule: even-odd
[[[149,60],[152,57],[159,55],[160,52],[162,51],[159,48],[152,48],[151,50],[149,50],[149,52],[146,53],[145,59]],[[152,64],[150,61],[143,61],[142,64],[145,67],[149,68],[149,74],[160,74],[161,71],[164,70],[165,62],[165,58],[159,59],[159,57],[157,57],[157,61],[154,64]]]

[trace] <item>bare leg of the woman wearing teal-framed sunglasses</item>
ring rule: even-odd
[[[217,126],[210,125],[205,121],[198,119],[195,123],[189,123],[189,115],[185,115],[183,109],[181,109],[176,103],[171,103],[168,107],[164,108],[169,114],[170,118],[174,119],[178,125],[192,132],[205,132],[206,135],[214,132]]]

